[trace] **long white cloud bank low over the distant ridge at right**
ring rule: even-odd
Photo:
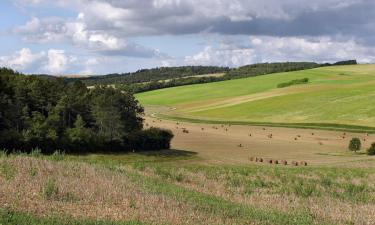
[[[216,48],[207,46],[203,51],[185,57],[184,64],[237,67],[260,62],[335,62],[348,59],[374,63],[375,48],[363,46],[353,39],[252,36],[245,45],[233,42]]]

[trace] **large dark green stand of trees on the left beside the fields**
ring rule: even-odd
[[[77,80],[25,76],[0,69],[0,149],[45,153],[169,148],[171,131],[143,129],[143,108],[131,93],[89,90]]]

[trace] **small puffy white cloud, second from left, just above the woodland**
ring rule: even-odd
[[[63,73],[68,66],[68,58],[65,56],[64,50],[50,49],[48,50],[48,62],[44,69],[51,74]]]

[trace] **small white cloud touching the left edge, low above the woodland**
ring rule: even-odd
[[[16,70],[25,70],[45,56],[44,52],[33,54],[30,49],[22,48],[11,56],[0,56],[0,65]]]

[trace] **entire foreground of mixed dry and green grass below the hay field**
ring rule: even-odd
[[[100,224],[368,224],[375,219],[375,176],[367,168],[206,165],[191,154],[176,158],[168,151],[117,157],[2,155],[0,224],[98,224],[98,219],[112,221]]]

